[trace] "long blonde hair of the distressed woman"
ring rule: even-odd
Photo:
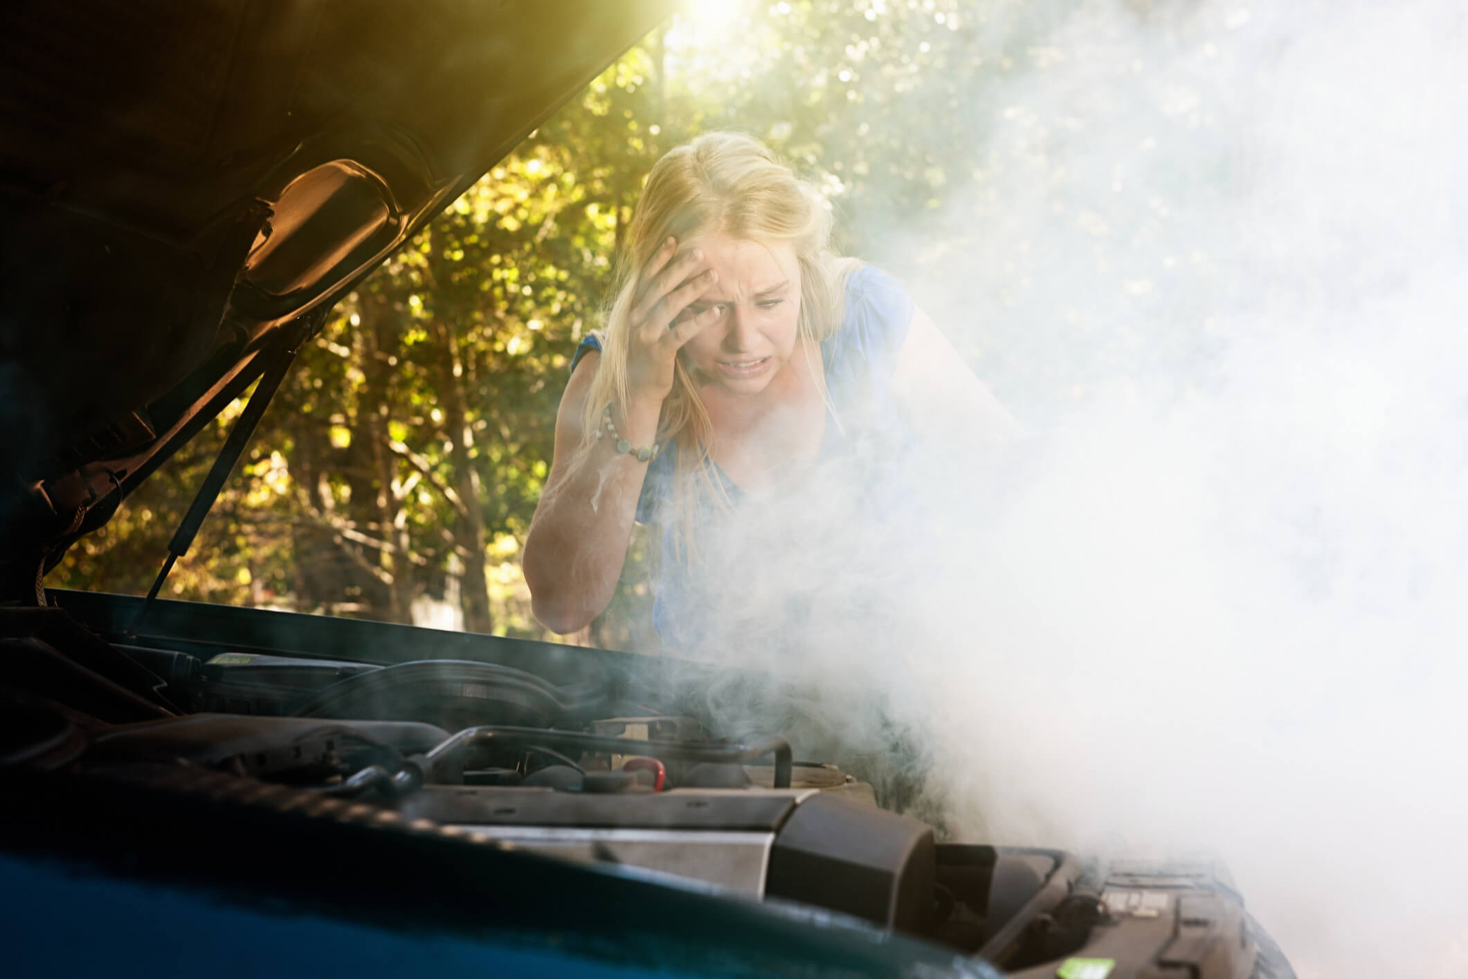
[[[603,316],[602,358],[586,399],[581,432],[589,449],[606,405],[625,405],[628,314],[639,272],[669,236],[719,233],[757,242],[788,242],[800,264],[802,341],[819,342],[840,327],[846,274],[856,263],[831,252],[831,210],[816,191],[760,141],[738,132],[711,132],[671,150],[652,167],[647,185],[617,255],[615,289]],[[818,373],[819,376],[819,373]],[[684,358],[674,368],[672,390],[662,404],[658,440],[675,446],[671,514],[693,545],[696,480],[715,490],[706,459],[713,446],[709,414]]]

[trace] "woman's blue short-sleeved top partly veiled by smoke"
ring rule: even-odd
[[[834,410],[834,417],[831,410],[826,412],[821,446],[822,462],[859,455],[895,455],[910,443],[912,433],[891,399],[891,380],[912,314],[912,298],[887,273],[863,266],[847,277],[841,326],[821,341],[821,363]],[[595,333],[587,335],[575,349],[571,370],[575,370],[575,364],[587,351],[600,349],[600,338]],[[664,525],[662,571],[655,589],[653,627],[666,647],[688,652],[711,638],[702,614],[709,605],[709,589],[724,590],[725,586],[711,580],[711,575],[718,575],[721,571],[716,556],[703,556],[690,567],[683,556],[686,549],[678,546],[681,528],[664,520],[662,505],[671,498],[674,452],[669,443],[647,467],[637,499],[637,521]],[[740,487],[712,459],[706,465],[730,502],[740,506],[744,502]],[[882,511],[901,506],[901,489],[885,486],[868,495],[865,509]],[[705,552],[702,546],[705,531],[713,528],[721,512],[722,508],[713,501],[703,501],[696,506],[694,533],[699,534],[700,555]],[[741,569],[741,577],[747,578],[752,574],[757,575],[759,571]],[[802,600],[799,596],[791,599]]]

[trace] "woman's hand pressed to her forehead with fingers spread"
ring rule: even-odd
[[[672,390],[678,349],[716,319],[713,310],[686,311],[715,282],[718,273],[708,267],[703,251],[678,252],[674,238],[643,266],[627,316],[627,387],[634,401],[646,398],[661,407]]]

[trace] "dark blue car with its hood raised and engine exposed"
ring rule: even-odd
[[[1287,975],[1216,867],[940,841],[712,729],[706,666],[44,589],[255,385],[182,556],[332,304],[669,9],[0,13],[22,973]]]

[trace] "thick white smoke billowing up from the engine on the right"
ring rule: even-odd
[[[1468,15],[1274,7],[1080,4],[981,94],[972,192],[866,257],[1032,445],[912,462],[906,559],[841,481],[741,527],[854,543],[740,590],[730,655],[787,660],[821,583],[800,672],[832,725],[885,691],[956,835],[1208,853],[1302,976],[1456,976]]]

